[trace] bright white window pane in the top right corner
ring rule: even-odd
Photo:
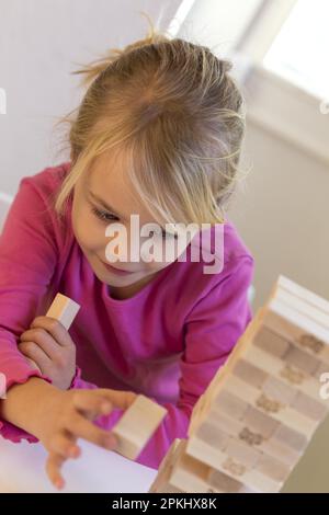
[[[329,98],[329,0],[298,0],[265,55],[265,68]]]

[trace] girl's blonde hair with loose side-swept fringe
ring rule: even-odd
[[[243,99],[231,62],[209,48],[150,33],[72,73],[88,90],[68,122],[71,169],[60,215],[79,176],[110,149],[122,152],[157,221],[222,224],[239,176]]]

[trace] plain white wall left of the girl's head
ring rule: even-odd
[[[148,31],[146,12],[166,28],[180,0],[0,0],[0,192],[61,161],[57,117],[76,107],[79,77],[69,72]],[[63,154],[64,159],[67,158]]]

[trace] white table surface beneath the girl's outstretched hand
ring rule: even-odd
[[[63,493],[147,492],[157,471],[82,439],[81,456],[63,466]],[[53,493],[45,471],[47,451],[42,444],[13,444],[0,436],[0,492]]]

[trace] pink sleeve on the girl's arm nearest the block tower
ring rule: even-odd
[[[188,436],[195,402],[225,364],[252,318],[248,288],[252,282],[253,259],[243,255],[228,263],[223,274],[222,281],[188,316],[180,397],[177,404],[161,403],[168,414],[136,459],[139,464],[158,468],[173,439]],[[83,381],[78,384],[81,388],[88,385],[83,386]],[[122,414],[122,410],[114,410],[110,416],[99,417],[97,425],[111,430]]]

